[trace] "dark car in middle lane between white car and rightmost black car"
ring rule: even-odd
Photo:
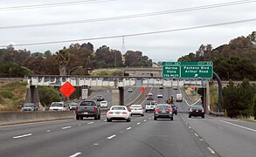
[[[173,120],[172,108],[168,104],[158,104],[154,112],[154,120],[171,119]]]

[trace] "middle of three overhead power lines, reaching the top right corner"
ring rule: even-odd
[[[43,26],[54,26],[54,25],[68,25],[68,24],[85,24],[85,23],[96,23],[96,22],[103,22],[103,21],[114,21],[114,20],[121,20],[121,19],[128,19],[128,18],[137,18],[137,17],[152,17],[152,16],[160,16],[165,14],[174,14],[179,12],[188,12],[194,10],[206,10],[212,8],[219,8],[231,5],[238,5],[243,3],[254,3],[256,0],[246,0],[246,1],[235,1],[232,3],[217,3],[211,5],[203,5],[197,7],[190,7],[190,8],[183,8],[178,10],[164,10],[164,11],[157,11],[157,12],[149,12],[144,14],[134,14],[128,16],[120,16],[120,17],[104,17],[104,18],[92,18],[92,19],[85,19],[85,20],[76,20],[76,21],[64,21],[64,22],[56,22],[56,23],[44,23],[44,24],[21,24],[21,25],[9,25],[9,26],[0,26],[0,30],[3,29],[18,29],[18,28],[31,28],[31,27],[43,27]]]

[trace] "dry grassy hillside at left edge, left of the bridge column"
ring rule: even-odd
[[[0,111],[19,111],[24,104],[27,82],[0,84]]]

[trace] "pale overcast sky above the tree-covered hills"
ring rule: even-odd
[[[0,0],[0,45],[54,42],[86,38],[123,36],[128,34],[165,31],[143,36],[125,37],[125,51],[142,51],[153,61],[176,61],[189,52],[197,51],[201,44],[212,44],[213,48],[228,44],[231,39],[247,36],[256,31],[256,21],[205,27],[185,31],[176,29],[190,28],[208,24],[221,24],[232,21],[256,18],[256,2],[215,7],[204,10],[188,10],[199,6],[212,6],[218,3],[237,2],[235,0],[84,0],[83,3],[68,3],[62,6],[40,4],[78,2],[79,0]],[[82,1],[82,0],[80,0]],[[251,3],[247,3],[251,2]],[[10,8],[16,6],[38,5],[32,9]],[[18,9],[18,10],[17,10]],[[76,20],[121,17],[167,10],[186,11],[157,16],[137,17],[93,23],[52,25],[4,29],[5,26],[24,24],[49,24]],[[31,52],[56,52],[72,43],[101,45],[122,51],[122,38],[84,40],[59,44],[38,44],[15,46]]]

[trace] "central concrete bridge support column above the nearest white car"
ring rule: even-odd
[[[118,89],[112,90],[112,106],[124,105],[124,90],[123,87],[118,87]]]

